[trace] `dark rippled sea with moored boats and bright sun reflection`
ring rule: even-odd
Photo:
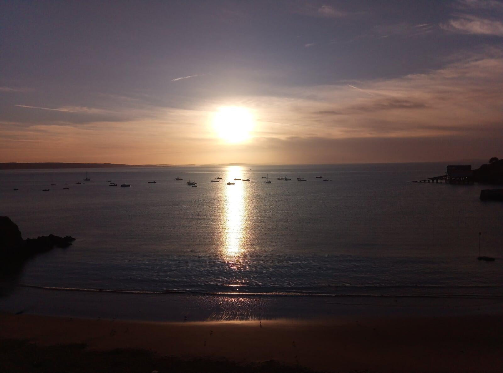
[[[0,215],[23,238],[76,238],[29,260],[0,312],[190,321],[500,311],[503,203],[479,199],[490,186],[408,182],[446,166],[0,171]],[[496,260],[477,260],[479,250]]]

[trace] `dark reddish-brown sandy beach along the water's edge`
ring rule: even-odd
[[[34,344],[24,345],[25,350],[42,349],[42,355],[52,359],[60,354],[87,355],[82,361],[90,369],[99,369],[93,366],[99,360],[93,355],[97,351],[135,349],[140,351],[124,358],[161,366],[166,363],[163,356],[171,356],[197,360],[197,364],[205,359],[217,365],[276,360],[287,365],[285,369],[325,371],[499,372],[503,371],[501,335],[503,319],[498,315],[186,323],[0,316],[3,350],[17,351],[4,355],[2,371],[46,371],[27,366],[30,362],[20,357],[19,341],[25,340]],[[75,349],[75,344],[81,347]],[[44,350],[55,345],[59,345],[56,350]],[[47,364],[50,361],[43,367]]]

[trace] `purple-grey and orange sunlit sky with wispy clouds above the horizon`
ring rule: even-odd
[[[242,117],[246,136],[223,131]],[[249,123],[248,123],[249,124]],[[0,1],[0,162],[503,157],[503,1]]]

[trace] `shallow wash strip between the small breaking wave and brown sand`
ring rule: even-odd
[[[137,294],[17,286],[10,290],[0,297],[0,313],[154,322],[456,317],[498,315],[503,309],[500,297]]]

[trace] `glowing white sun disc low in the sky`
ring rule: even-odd
[[[213,117],[213,125],[218,136],[227,142],[243,142],[250,138],[254,117],[246,108],[222,106]]]

